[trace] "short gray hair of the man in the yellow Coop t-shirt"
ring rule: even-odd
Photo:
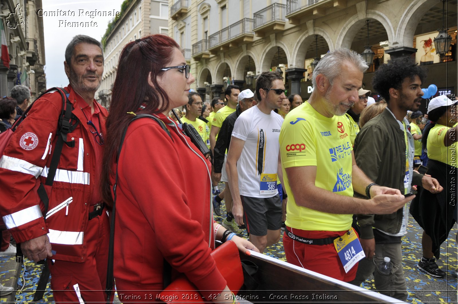
[[[363,57],[354,50],[339,48],[326,54],[316,65],[312,73],[312,85],[316,87],[316,76],[323,74],[327,77],[330,86],[333,86],[334,79],[341,74],[342,64],[347,61],[353,64],[361,72],[365,72],[368,68]]]

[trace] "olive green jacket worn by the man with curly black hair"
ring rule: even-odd
[[[423,174],[412,172],[414,157],[414,138],[407,126],[409,142],[410,180],[412,185],[421,185]],[[404,175],[406,170],[406,152],[404,131],[398,120],[386,108],[382,114],[369,120],[360,130],[354,141],[356,164],[377,185],[399,189],[404,194]],[[410,190],[410,187],[409,189]],[[362,239],[373,239],[372,227],[387,233],[396,234],[402,225],[403,208],[391,214],[357,214]]]

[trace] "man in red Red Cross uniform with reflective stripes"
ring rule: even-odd
[[[73,105],[71,124],[52,187],[45,185],[49,207],[36,186],[48,176],[61,116],[59,92],[37,100],[0,158],[0,214],[24,255],[47,258],[57,303],[104,302],[109,221],[98,177],[107,111],[94,99],[104,71],[101,44],[77,35],[65,50],[65,91]],[[70,145],[71,146],[71,145]]]

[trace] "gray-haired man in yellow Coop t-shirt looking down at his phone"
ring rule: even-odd
[[[290,112],[280,130],[288,205],[283,236],[289,263],[349,282],[364,257],[352,215],[392,213],[409,198],[375,185],[356,166],[348,119],[367,65],[349,49],[324,56],[313,71],[310,99]],[[369,200],[353,197],[353,191]]]

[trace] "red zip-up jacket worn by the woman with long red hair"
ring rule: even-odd
[[[172,124],[163,114],[158,117]],[[135,120],[121,150],[114,278],[124,303],[156,299],[163,288],[164,259],[174,269],[172,279],[177,271],[184,273],[204,296],[226,286],[210,256],[210,163],[174,124],[168,129],[172,138],[153,119]]]

